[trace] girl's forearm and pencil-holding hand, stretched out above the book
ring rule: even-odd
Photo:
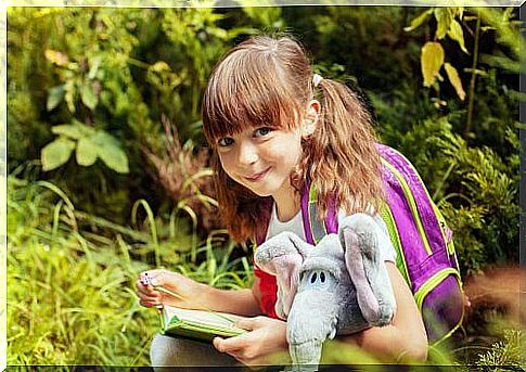
[[[141,273],[141,277],[144,274],[147,274],[151,284],[144,285],[138,279],[136,287],[141,304],[146,307],[168,305],[185,309],[231,312],[241,316],[256,316],[261,312],[259,310],[257,291],[254,292],[248,288],[238,291],[217,290],[164,269],[149,270]],[[257,288],[258,285],[255,285],[255,287]]]

